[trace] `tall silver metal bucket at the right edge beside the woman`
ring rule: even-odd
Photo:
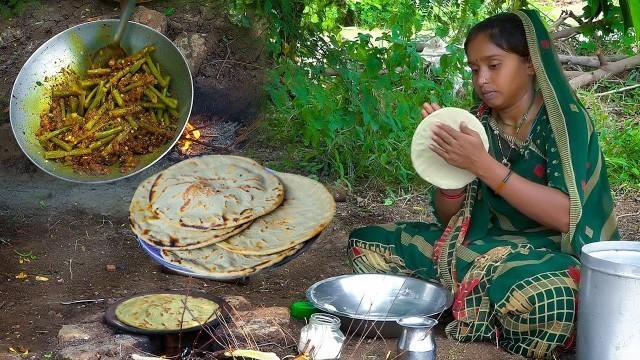
[[[640,357],[640,242],[582,247],[578,303],[579,360]]]

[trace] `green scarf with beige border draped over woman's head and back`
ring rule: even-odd
[[[537,12],[517,11],[524,24],[537,85],[549,113],[571,202],[562,251],[580,256],[582,246],[619,238],[614,203],[598,134],[566,80],[549,33]]]

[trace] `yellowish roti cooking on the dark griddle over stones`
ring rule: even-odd
[[[149,294],[120,303],[118,320],[145,330],[180,330],[214,320],[220,306],[209,299],[182,294]]]

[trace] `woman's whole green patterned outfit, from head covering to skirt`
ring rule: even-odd
[[[476,180],[446,227],[402,222],[356,229],[348,257],[355,272],[404,274],[451,289],[449,337],[497,342],[515,354],[552,359],[573,345],[582,246],[617,240],[618,230],[593,123],[564,78],[538,14],[516,14],[544,106],[525,142],[502,132],[486,105],[472,112],[485,127],[494,157],[502,160],[501,145],[515,144],[517,151],[507,156],[514,172],[569,195],[569,231],[540,226]]]

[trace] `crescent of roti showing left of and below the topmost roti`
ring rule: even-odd
[[[149,206],[149,191],[158,175],[143,181],[129,205],[129,223],[144,242],[161,249],[195,249],[222,241],[251,224],[246,222],[231,228],[199,230],[185,228],[161,218]]]

